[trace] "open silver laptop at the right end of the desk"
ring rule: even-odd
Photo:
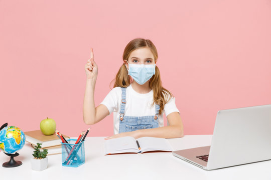
[[[210,146],[173,155],[206,170],[271,159],[271,104],[219,110]]]

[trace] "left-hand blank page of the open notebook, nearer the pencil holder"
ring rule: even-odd
[[[131,136],[119,137],[114,139],[105,140],[104,152],[120,153],[120,152],[138,152],[139,148],[135,139]]]

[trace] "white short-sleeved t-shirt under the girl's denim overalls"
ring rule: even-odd
[[[153,102],[153,90],[148,93],[138,93],[131,87],[131,84],[126,88],[126,105],[124,115],[128,116],[145,116],[155,115],[155,104]],[[101,104],[104,104],[109,114],[114,112],[114,134],[119,131],[119,111],[121,106],[121,87],[114,87],[103,99]],[[162,114],[158,116],[159,127],[164,126],[163,114],[166,116],[171,112],[179,112],[175,104],[175,97],[172,97],[168,103],[164,105]]]

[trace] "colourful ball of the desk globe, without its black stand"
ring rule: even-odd
[[[14,153],[23,148],[25,133],[16,126],[6,126],[0,130],[0,148],[6,153]]]

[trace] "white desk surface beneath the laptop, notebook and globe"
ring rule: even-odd
[[[168,139],[174,150],[211,144],[212,135],[185,135]],[[23,164],[5,168],[10,159],[0,152],[0,177],[8,179],[271,179],[271,160],[233,167],[204,170],[172,155],[172,152],[104,155],[104,137],[87,137],[85,163],[79,167],[61,165],[61,154],[49,155],[48,168],[31,169],[33,148],[26,142],[15,160]],[[270,152],[271,153],[271,152]],[[251,154],[252,155],[252,154]],[[6,178],[7,177],[7,178]]]

